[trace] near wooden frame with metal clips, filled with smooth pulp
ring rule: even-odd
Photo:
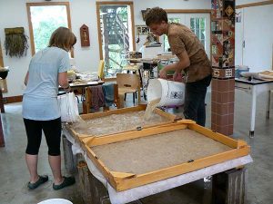
[[[151,136],[158,133],[164,133],[168,131],[177,131],[189,129],[192,131],[197,131],[203,134],[205,137],[210,138],[214,141],[218,141],[222,144],[227,145],[232,148],[231,151],[224,151],[215,155],[211,155],[205,158],[193,160],[192,162],[185,162],[178,164],[176,166],[171,166],[166,169],[156,170],[147,172],[144,174],[136,175],[134,173],[127,172],[116,172],[107,169],[106,165],[102,160],[100,160],[92,147],[109,144],[117,141],[126,141],[136,138],[142,138]],[[239,157],[243,157],[249,154],[250,147],[245,141],[235,141],[225,135],[220,133],[210,131],[207,128],[197,125],[194,121],[182,120],[176,123],[151,127],[144,129],[142,131],[127,131],[124,133],[118,133],[109,137],[96,137],[86,139],[86,153],[87,156],[92,160],[96,167],[103,173],[106,180],[110,182],[112,187],[117,191],[122,191],[126,189],[136,188],[138,186],[146,185],[148,183],[156,182],[158,180],[165,180],[171,177],[175,177],[193,170],[199,170],[207,166],[215,165],[217,163],[224,162],[226,160],[233,160]]]

